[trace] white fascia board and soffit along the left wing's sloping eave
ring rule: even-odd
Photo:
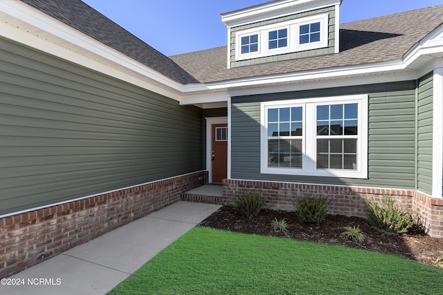
[[[105,60],[109,61],[109,64],[123,66],[123,68],[150,78],[155,82],[160,83],[162,86],[164,85],[165,88],[156,87],[141,79],[134,79],[132,75],[125,74],[118,69],[113,69],[111,66],[106,66],[102,62],[93,60],[91,57],[86,57],[82,54],[75,53],[75,51],[70,50],[67,45],[63,47],[57,46],[53,42],[45,42],[45,39],[37,37],[36,35],[33,35],[33,33],[29,33],[21,28],[17,28],[17,26],[12,26],[5,21],[1,21],[0,28],[0,34],[3,37],[21,44],[25,44],[26,46],[37,48],[40,51],[44,51],[64,60],[69,60],[70,62],[80,64],[89,69],[111,75],[120,80],[137,84],[145,89],[155,91],[175,100],[179,100],[180,98],[178,93],[183,87],[181,83],[176,82],[165,75],[154,71],[149,66],[146,66],[141,62],[137,62],[131,57],[127,57],[127,55],[124,55],[123,53],[120,53],[119,51],[98,42],[96,39],[84,35],[78,30],[75,30],[62,22],[45,15],[43,12],[31,8],[21,1],[0,1],[0,11],[8,15],[8,17],[3,15],[3,17],[8,19],[9,17],[13,17],[17,21],[26,21],[26,23],[23,23],[24,26],[32,26],[33,28],[40,30],[42,33],[50,34],[51,37],[59,38],[60,42],[64,41],[68,44],[72,44],[73,46],[78,46],[88,53],[96,55],[98,57],[97,59],[104,58]],[[46,37],[46,39],[48,38]],[[166,90],[167,88],[170,88],[171,91]]]

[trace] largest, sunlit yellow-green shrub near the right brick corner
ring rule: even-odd
[[[368,221],[372,226],[383,231],[392,233],[406,233],[417,222],[417,218],[412,213],[408,213],[401,208],[394,206],[392,197],[383,196],[380,204],[372,198],[365,199],[368,205]]]

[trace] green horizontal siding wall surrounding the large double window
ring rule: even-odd
[[[260,102],[369,94],[368,179],[260,174]],[[233,179],[414,188],[415,82],[232,98]]]

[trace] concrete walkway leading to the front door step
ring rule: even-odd
[[[219,207],[172,204],[21,271],[10,278],[24,284],[0,285],[0,294],[106,294]]]

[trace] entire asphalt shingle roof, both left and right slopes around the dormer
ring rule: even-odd
[[[221,82],[399,60],[443,24],[443,5],[340,25],[340,53],[227,69],[227,47],[167,57],[80,0],[21,0],[172,80]]]

